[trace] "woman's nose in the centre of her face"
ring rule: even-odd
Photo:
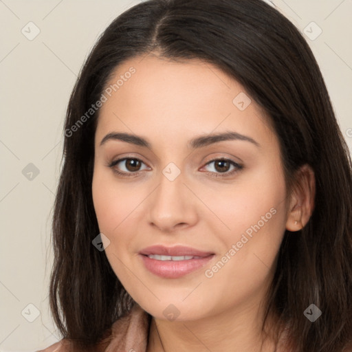
[[[148,197],[148,222],[162,232],[195,225],[197,197],[184,183],[182,173],[173,181],[163,174],[159,179],[159,185]]]

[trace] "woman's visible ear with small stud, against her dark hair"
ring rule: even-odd
[[[305,227],[314,210],[316,179],[314,170],[308,164],[301,166],[295,179],[287,208],[286,229],[292,232]]]

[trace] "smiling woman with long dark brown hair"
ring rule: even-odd
[[[351,158],[261,0],[149,0],[65,121],[45,351],[351,351]],[[62,314],[62,316],[61,316]]]

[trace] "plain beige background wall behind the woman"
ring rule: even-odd
[[[61,339],[50,316],[47,287],[65,109],[98,35],[139,2],[0,0],[0,351],[36,351]],[[352,0],[273,2],[311,38],[321,28],[316,39],[306,38],[352,151]],[[27,25],[30,21],[40,30],[32,41],[28,36],[36,28]],[[39,170],[32,180],[23,175],[26,166],[33,168],[30,163]]]

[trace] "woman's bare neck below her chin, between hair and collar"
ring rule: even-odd
[[[263,313],[251,305],[186,322],[152,318],[147,352],[273,352],[272,333],[262,331]],[[272,318],[267,326],[274,327]]]

